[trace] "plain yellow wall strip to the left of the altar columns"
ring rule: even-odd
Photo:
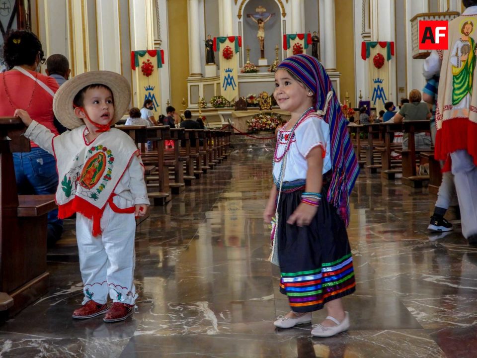
[[[189,77],[187,0],[168,0],[167,15],[169,25],[170,104],[179,111],[184,109],[181,103],[182,98],[185,98],[187,102],[186,80]]]

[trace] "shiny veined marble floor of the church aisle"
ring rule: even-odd
[[[312,338],[311,325],[276,330],[288,305],[266,261],[270,164],[270,153],[233,153],[167,207],[152,208],[137,231],[132,319],[73,320],[78,263],[49,262],[49,292],[0,323],[0,357],[477,357],[477,249],[457,221],[454,232],[429,235],[435,196],[427,189],[364,172],[348,229],[351,329],[328,339]],[[71,222],[66,242],[69,235]],[[324,316],[316,312],[313,323]]]

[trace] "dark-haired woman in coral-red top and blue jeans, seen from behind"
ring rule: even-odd
[[[30,113],[37,122],[58,131],[53,124],[53,96],[58,90],[55,79],[38,73],[45,62],[40,40],[31,32],[18,30],[8,34],[3,44],[3,59],[8,71],[0,73],[0,116],[13,116],[16,108]],[[55,158],[31,142],[31,152],[13,153],[19,194],[54,194],[58,187]],[[58,210],[48,214],[48,242],[60,238],[63,221]]]

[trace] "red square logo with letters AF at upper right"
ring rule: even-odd
[[[446,20],[419,21],[419,50],[449,49],[449,22]]]

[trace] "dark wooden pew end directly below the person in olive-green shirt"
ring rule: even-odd
[[[429,132],[430,122],[422,121],[403,121],[402,129],[408,134],[407,150],[397,150],[402,156],[402,183],[412,187],[422,187],[424,181],[429,180],[429,176],[420,176],[416,170],[416,164],[421,152],[430,152],[430,150],[416,150],[415,138],[416,133]]]

